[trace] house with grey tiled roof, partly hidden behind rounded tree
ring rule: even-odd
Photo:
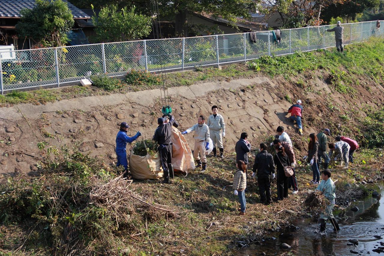
[[[63,2],[68,4],[75,23],[78,20],[88,21],[91,19],[91,16],[70,2],[66,0],[63,0]],[[20,11],[25,8],[32,9],[33,7],[35,7],[35,0],[0,0],[0,45],[13,44],[17,50],[31,48],[33,42],[29,39],[15,39],[15,25],[20,20]]]

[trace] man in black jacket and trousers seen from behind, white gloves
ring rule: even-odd
[[[275,164],[273,163],[273,156],[266,151],[267,146],[264,143],[260,144],[260,153],[255,157],[253,164],[253,175],[257,173],[257,182],[260,191],[260,202],[270,204],[271,200],[271,180],[275,178]],[[266,194],[266,198],[265,198]]]

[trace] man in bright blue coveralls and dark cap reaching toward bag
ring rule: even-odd
[[[127,143],[131,143],[134,140],[137,140],[139,136],[141,136],[141,133],[138,131],[136,135],[129,137],[127,135],[129,125],[126,122],[122,122],[120,124],[120,131],[116,135],[116,156],[118,158],[118,162],[116,163],[116,166],[124,166],[124,178],[127,177],[127,170],[128,170],[128,160],[127,160]]]

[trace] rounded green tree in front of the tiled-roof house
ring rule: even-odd
[[[20,14],[20,22],[16,24],[20,37],[41,42],[44,47],[58,47],[68,42],[67,32],[74,20],[68,4],[62,0],[36,0],[33,9],[22,9]]]

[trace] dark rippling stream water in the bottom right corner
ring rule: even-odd
[[[319,224],[311,219],[299,220],[293,223],[299,227],[297,231],[267,234],[266,241],[251,244],[237,251],[235,255],[379,255],[372,250],[384,246],[384,189],[381,191],[377,189],[377,191],[383,195],[380,199],[369,195],[352,204],[352,206],[358,206],[357,212],[349,208],[344,214],[334,211],[335,216],[343,214],[344,217],[348,217],[340,224],[341,230],[338,233],[333,231],[333,226],[329,222],[326,233],[320,234]],[[382,236],[382,239],[374,237],[377,235]],[[349,239],[358,239],[359,244],[347,245]],[[287,243],[292,248],[281,249],[281,243]]]

